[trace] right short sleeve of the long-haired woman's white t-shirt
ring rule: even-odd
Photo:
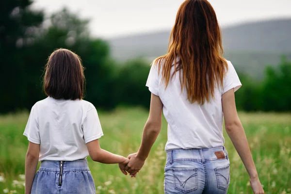
[[[234,66],[229,61],[227,61],[227,65],[228,65],[228,70],[227,70],[226,77],[224,80],[222,94],[226,93],[227,91],[233,88],[234,88],[234,91],[236,92],[238,89],[240,89],[240,87],[242,87],[242,83],[239,79],[237,72],[234,69]]]

